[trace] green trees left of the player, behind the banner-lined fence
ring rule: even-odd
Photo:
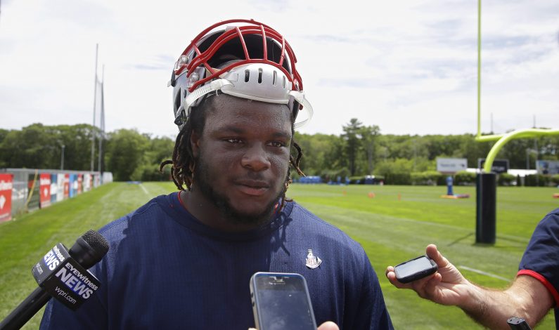
[[[91,170],[94,138],[94,171],[113,172],[114,180],[167,180],[160,162],[170,159],[174,140],[153,137],[135,129],[119,129],[101,139],[101,169],[98,168],[101,131],[89,124],[32,124],[21,130],[0,128],[0,168]],[[63,163],[62,162],[63,158]]]

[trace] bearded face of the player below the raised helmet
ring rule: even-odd
[[[192,139],[193,190],[200,190],[226,218],[262,223],[283,193],[290,111],[285,105],[229,95],[212,99],[202,136]]]

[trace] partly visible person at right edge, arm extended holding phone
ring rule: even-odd
[[[435,245],[427,246],[427,255],[439,267],[434,275],[402,284],[394,268],[388,266],[387,278],[394,286],[413,289],[422,298],[456,305],[491,329],[510,329],[506,322],[510,317],[521,317],[534,326],[555,307],[555,328],[559,329],[559,209],[537,225],[520,260],[516,279],[503,291],[469,282]]]

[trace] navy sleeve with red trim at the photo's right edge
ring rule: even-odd
[[[520,260],[518,275],[538,279],[555,299],[555,329],[559,329],[559,209],[540,221]]]

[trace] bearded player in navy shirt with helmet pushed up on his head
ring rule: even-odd
[[[311,107],[281,34],[253,20],[212,25],[170,85],[180,133],[162,167],[179,192],[103,227],[101,288],[75,313],[50,303],[41,328],[246,330],[259,271],[303,275],[321,330],[392,328],[361,246],[285,197]]]

